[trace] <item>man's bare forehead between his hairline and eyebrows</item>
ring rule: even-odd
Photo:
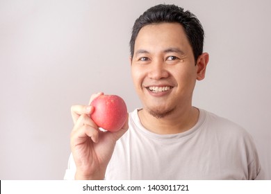
[[[149,24],[141,28],[136,37],[135,50],[161,47],[189,49],[190,44],[181,24]]]

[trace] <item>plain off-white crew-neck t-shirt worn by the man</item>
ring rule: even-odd
[[[69,158],[64,179],[74,179]],[[129,114],[105,179],[264,179],[252,137],[240,126],[199,109],[197,124],[179,134],[155,134]]]

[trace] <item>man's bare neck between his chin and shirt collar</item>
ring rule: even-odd
[[[156,118],[141,109],[138,112],[140,122],[149,131],[156,134],[177,134],[190,130],[198,121],[199,110],[195,107],[188,107],[171,112],[163,118]]]

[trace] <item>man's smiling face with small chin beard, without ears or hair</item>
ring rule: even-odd
[[[131,59],[131,73],[143,109],[161,118],[191,105],[197,80],[195,63],[180,24],[141,28]]]

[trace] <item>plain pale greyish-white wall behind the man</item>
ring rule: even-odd
[[[70,107],[97,91],[140,107],[129,66],[134,20],[150,6],[193,12],[210,54],[194,105],[254,137],[271,179],[271,1],[0,0],[0,179],[63,179]]]

